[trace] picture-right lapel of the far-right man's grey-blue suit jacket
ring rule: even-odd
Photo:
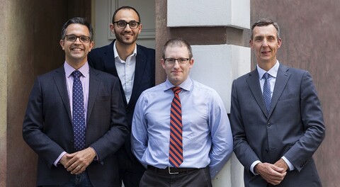
[[[273,112],[273,108],[275,108],[276,104],[278,103],[278,99],[283,93],[289,77],[290,73],[288,72],[288,67],[280,64],[280,67],[278,67],[278,75],[276,76],[273,97],[271,98],[271,108],[269,110],[269,115],[271,115],[271,113]]]

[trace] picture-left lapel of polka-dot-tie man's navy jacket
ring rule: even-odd
[[[69,114],[69,120],[72,120],[71,109],[69,108],[69,94],[67,93],[64,67],[60,67],[55,70],[53,79],[55,80],[55,85],[57,86],[60,97],[62,98],[62,102],[64,103],[64,106],[67,110],[67,113]]]

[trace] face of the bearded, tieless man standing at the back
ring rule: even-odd
[[[121,9],[115,14],[115,21],[125,21],[130,23],[130,21],[140,22],[138,15],[132,9]],[[135,45],[135,42],[142,30],[142,25],[140,24],[137,28],[130,28],[130,25],[127,25],[125,28],[118,28],[117,23],[111,23],[110,25],[111,32],[115,33],[115,38],[117,42],[123,45]]]

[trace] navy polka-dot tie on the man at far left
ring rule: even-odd
[[[83,86],[79,77],[81,72],[78,70],[72,73],[73,81],[73,131],[74,131],[74,148],[80,151],[85,148],[85,110],[84,110],[84,94]]]

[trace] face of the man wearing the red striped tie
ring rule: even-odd
[[[190,58],[188,48],[184,45],[168,45],[164,52],[164,57],[165,59]],[[174,64],[169,64],[165,61],[165,59],[162,59],[161,62],[162,67],[165,69],[166,76],[171,84],[178,86],[188,78],[189,71],[193,67],[193,59],[188,60],[186,64],[179,64],[178,61],[176,61]]]

